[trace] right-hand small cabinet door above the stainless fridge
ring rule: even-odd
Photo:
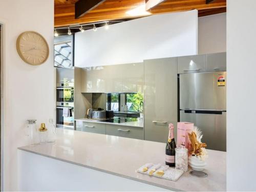
[[[226,71],[227,58],[226,52],[212,53],[206,55],[206,70],[207,71]]]

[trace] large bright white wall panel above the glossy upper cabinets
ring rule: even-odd
[[[75,66],[197,54],[198,11],[153,15],[75,34]]]

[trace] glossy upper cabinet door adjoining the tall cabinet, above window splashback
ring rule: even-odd
[[[122,68],[122,92],[143,93],[144,65],[142,63],[131,63],[121,65]]]

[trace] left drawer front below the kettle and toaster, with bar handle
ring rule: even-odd
[[[77,131],[106,134],[106,127],[104,123],[80,122],[77,121],[76,123]]]

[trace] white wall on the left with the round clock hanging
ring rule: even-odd
[[[53,0],[0,1],[0,23],[4,24],[4,190],[17,190],[17,146],[28,144],[26,120],[34,118],[39,124],[55,119],[53,6]],[[30,66],[17,54],[16,39],[28,30],[39,32],[48,41],[50,56],[41,66]]]

